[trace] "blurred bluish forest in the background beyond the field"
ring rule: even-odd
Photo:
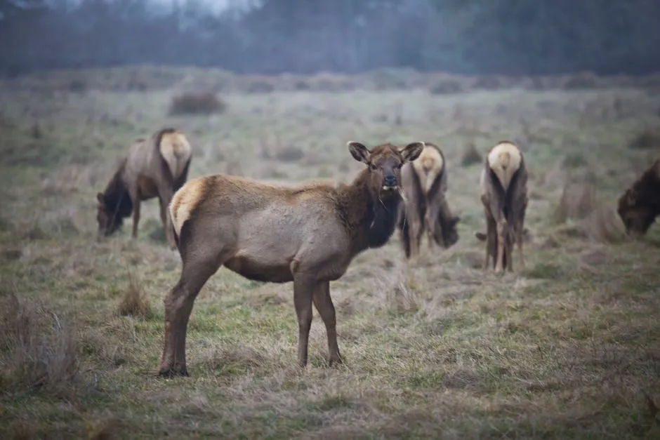
[[[659,0],[0,0],[0,74],[121,65],[236,73],[383,67],[660,70]]]

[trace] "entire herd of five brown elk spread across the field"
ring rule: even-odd
[[[159,374],[187,375],[185,340],[195,298],[220,267],[254,281],[293,282],[298,319],[298,365],[308,362],[312,304],[326,328],[329,364],[341,364],[330,281],[343,276],[356,255],[384,246],[395,229],[406,258],[416,258],[421,238],[449,248],[460,221],[447,204],[447,162],[430,142],[367,148],[348,142],[366,165],[350,185],[270,185],[233,175],[187,180],[192,148],[183,133],[164,128],[128,149],[98,199],[98,237],[108,236],[133,213],[137,237],[140,201],[158,197],[166,240],[183,262],[180,278],[164,300],[165,335]],[[628,234],[642,235],[660,214],[660,159],[619,199]],[[486,156],[480,200],[487,232],[483,269],[513,272],[513,245],[520,268],[527,166],[514,142],[501,141]]]

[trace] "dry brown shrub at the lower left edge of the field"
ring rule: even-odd
[[[0,296],[0,387],[71,396],[79,383],[77,333],[37,302]]]

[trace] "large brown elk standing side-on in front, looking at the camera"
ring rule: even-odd
[[[247,279],[293,281],[298,317],[298,365],[308,359],[312,302],[326,328],[329,364],[341,363],[329,281],[352,258],[383,246],[392,236],[402,201],[400,169],[421,153],[423,142],[403,149],[368,149],[348,142],[367,165],[350,185],[268,185],[230,175],[187,182],[169,206],[183,269],[164,300],[165,338],[159,374],[187,375],[185,335],[194,299],[221,266]]]

